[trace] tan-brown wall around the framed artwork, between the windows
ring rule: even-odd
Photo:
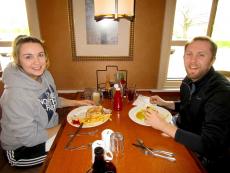
[[[157,87],[165,0],[136,0],[133,61],[73,61],[68,0],[37,1],[41,37],[51,60],[50,71],[59,90],[96,87],[96,69],[118,65],[128,70],[137,88]]]

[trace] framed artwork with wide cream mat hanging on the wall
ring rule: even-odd
[[[94,0],[68,0],[74,60],[133,59],[134,22],[94,20]]]

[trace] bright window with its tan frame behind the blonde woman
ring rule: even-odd
[[[36,1],[1,0],[0,71],[10,62],[12,41],[21,34],[40,36]]]

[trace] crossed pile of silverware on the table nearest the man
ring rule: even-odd
[[[150,147],[147,147],[143,140],[141,139],[137,139],[136,140],[137,143],[133,144],[135,147],[139,147],[141,149],[143,149],[145,151],[146,154],[150,154],[154,157],[159,157],[159,158],[163,158],[166,160],[169,160],[171,162],[175,162],[176,158],[175,158],[175,153],[169,152],[169,151],[164,151],[164,150],[156,150],[156,149],[152,149]]]

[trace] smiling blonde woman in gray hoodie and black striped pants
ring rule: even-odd
[[[44,43],[20,35],[13,44],[13,62],[3,72],[1,97],[1,144],[11,166],[33,166],[46,158],[47,141],[54,139],[60,125],[57,107],[94,104],[90,100],[58,97],[47,70]]]

